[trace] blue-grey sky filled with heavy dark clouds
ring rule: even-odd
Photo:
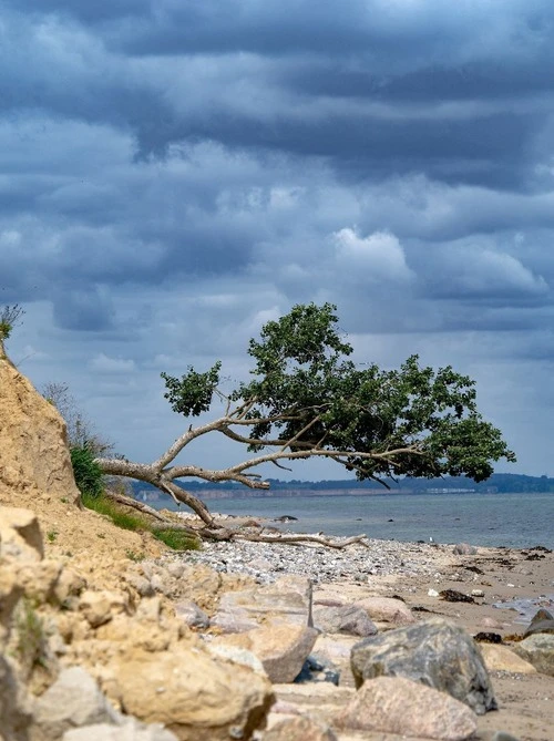
[[[470,374],[496,470],[554,475],[553,40],[551,0],[0,0],[12,360],[147,462],[189,423],[162,371],[230,388],[331,301],[357,362]]]

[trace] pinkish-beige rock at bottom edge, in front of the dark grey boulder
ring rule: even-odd
[[[442,741],[470,739],[478,728],[475,714],[465,704],[403,677],[367,681],[336,723],[352,730]]]

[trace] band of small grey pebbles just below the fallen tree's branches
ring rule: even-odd
[[[365,584],[377,575],[432,576],[437,572],[437,546],[373,539],[368,543],[369,547],[355,544],[336,550],[305,544],[207,542],[202,550],[191,550],[178,558],[206,564],[217,572],[247,574],[259,584],[269,584],[285,574],[305,576],[314,584],[338,578]]]

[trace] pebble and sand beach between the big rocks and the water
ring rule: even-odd
[[[235,526],[237,532],[249,529],[245,528],[248,525],[245,518],[224,516],[222,522]],[[285,574],[306,576],[314,583],[315,606],[357,603],[375,596],[398,597],[417,620],[445,617],[472,636],[496,634],[506,647],[515,645],[516,637],[523,635],[540,607],[554,611],[554,554],[541,547],[478,547],[474,554],[456,554],[452,545],[434,543],[369,541],[369,547],[351,545],[335,550],[317,545],[238,541],[208,543],[202,552],[182,557],[219,572],[247,575],[258,584],[271,583]],[[482,596],[473,601],[445,601],[440,597],[444,590]],[[490,675],[499,710],[479,718],[479,738],[489,741],[495,732],[504,731],[520,741],[552,741],[554,677],[510,670]],[[311,709],[319,716],[324,712],[325,717],[327,707],[332,714],[336,711],[330,699],[332,690],[327,690],[325,702],[322,690],[317,692],[310,697],[309,687],[295,685],[283,689],[281,699],[285,707],[298,703],[302,712]],[[273,716],[276,722],[279,713]],[[394,737],[339,735],[341,740],[347,738]]]

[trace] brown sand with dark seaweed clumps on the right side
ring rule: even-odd
[[[448,549],[438,547],[440,576],[432,582],[424,577],[375,577],[372,590],[383,596],[400,596],[421,617],[440,615],[452,618],[471,635],[480,631],[496,632],[503,638],[522,635],[529,621],[516,609],[493,606],[504,601],[510,604],[514,599],[531,597],[554,613],[554,554],[480,548],[475,556],[452,556],[450,559],[448,553],[451,550],[451,546]],[[482,573],[475,573],[475,568]],[[343,596],[351,590],[352,597],[359,589],[345,585],[340,588]],[[335,585],[328,585],[318,594],[332,593],[334,589]],[[484,597],[476,598],[475,604],[448,603],[430,597],[429,589],[455,589],[463,594],[482,589]],[[536,609],[538,607],[533,607],[532,614]],[[485,618],[493,620],[494,627],[490,627]],[[510,639],[506,645],[510,646]],[[554,677],[492,672],[491,679],[500,709],[480,718],[480,739],[488,741],[495,731],[502,730],[521,741],[554,740]]]

